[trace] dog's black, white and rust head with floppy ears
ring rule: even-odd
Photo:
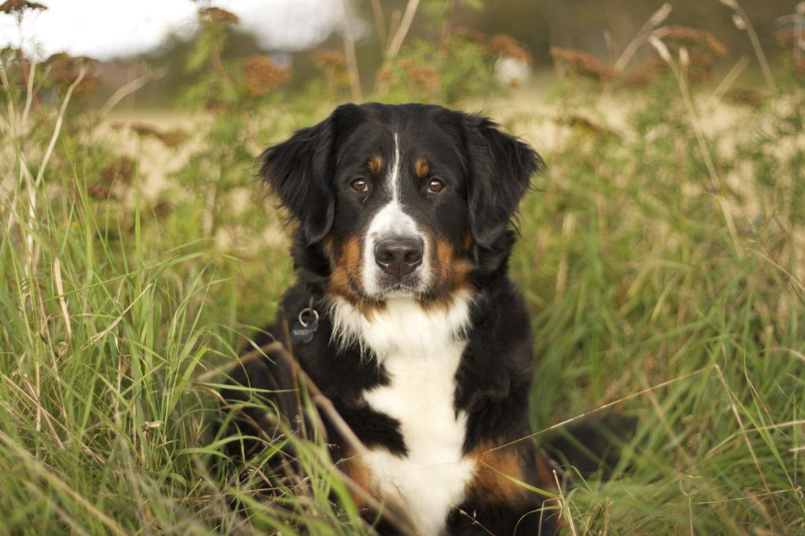
[[[424,104],[345,104],[261,158],[328,292],[353,303],[435,301],[496,269],[543,165],[492,121]]]

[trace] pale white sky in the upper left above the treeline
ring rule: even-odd
[[[43,58],[66,51],[98,59],[158,47],[171,31],[196,29],[191,0],[37,0],[47,10],[23,20],[23,48]],[[241,19],[240,27],[270,49],[295,51],[316,45],[339,26],[344,0],[216,0]],[[0,14],[0,48],[19,46],[16,19]]]

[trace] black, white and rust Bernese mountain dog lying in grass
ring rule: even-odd
[[[407,530],[384,518],[381,534],[552,534],[555,506],[533,489],[555,474],[527,439],[530,318],[506,274],[539,154],[485,117],[345,104],[261,164],[297,224],[296,283],[268,329],[293,362],[244,360],[224,398],[251,387],[299,426],[299,366],[364,447],[324,418],[333,458],[373,504],[406,513]],[[241,406],[242,434],[277,437],[277,415]]]

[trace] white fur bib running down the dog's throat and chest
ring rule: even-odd
[[[390,301],[371,321],[350,309],[334,304],[336,337],[374,350],[389,383],[367,391],[366,402],[399,421],[407,448],[406,456],[376,448],[363,462],[380,492],[402,498],[419,531],[435,536],[476,468],[462,456],[467,417],[453,407],[469,296],[430,312],[411,301]]]

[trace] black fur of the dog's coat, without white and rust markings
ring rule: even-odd
[[[412,151],[427,154],[434,176],[448,187],[448,194],[409,203],[411,211],[416,211],[418,221],[435,229],[440,239],[460,249],[462,258],[472,264],[466,283],[477,298],[454,393],[456,411],[468,415],[464,453],[528,436],[530,320],[522,296],[506,276],[506,264],[514,243],[511,220],[530,177],[542,170],[543,162],[528,145],[502,133],[484,117],[422,104],[347,104],[320,124],[299,130],[287,141],[266,149],[261,157],[262,177],[299,223],[292,250],[297,281],[285,294],[281,313],[269,331],[282,340],[299,311],[312,304],[320,312],[319,327],[312,342],[288,345],[295,360],[364,444],[405,456],[407,447],[398,421],[374,411],[361,398],[363,392],[388,382],[384,368],[371,356],[361,355],[356,345],[336,347],[325,304],[337,253],[365,226],[365,212],[372,210],[371,198],[358,198],[345,185],[355,174],[365,174],[366,155],[389,143],[390,125]],[[366,177],[378,183],[382,180],[370,174]],[[427,197],[415,190],[405,194],[411,199]],[[471,247],[462,249],[468,233]],[[423,304],[438,301],[449,298],[445,295],[449,292],[448,288],[431,289],[420,299]],[[373,305],[369,299],[362,303]],[[268,340],[258,338],[256,343]],[[297,387],[294,375],[279,357],[269,356],[238,367],[232,381],[262,390],[286,391],[262,397],[278,407],[279,415],[291,428],[302,418],[292,392]],[[235,389],[225,390],[223,395],[230,401],[246,399],[243,391]],[[252,436],[278,434],[261,411],[246,409],[236,422]],[[262,430],[255,429],[254,423]],[[329,424],[327,432],[337,459],[345,452],[345,440]],[[244,449],[254,451],[259,445],[255,441]],[[239,448],[236,451],[242,452]],[[253,454],[246,452],[247,456]],[[516,456],[524,480],[547,486],[535,468],[534,460],[539,456],[535,444],[521,441]],[[512,534],[518,526],[518,534],[535,534],[544,497],[528,493],[516,504],[502,504],[491,501],[489,493],[485,489],[468,490],[464,503],[448,516],[448,533],[487,534],[489,530]],[[469,517],[473,515],[475,518]],[[544,517],[550,516],[544,513]],[[543,522],[542,530],[551,534],[551,523]],[[388,528],[388,532],[393,530]]]

